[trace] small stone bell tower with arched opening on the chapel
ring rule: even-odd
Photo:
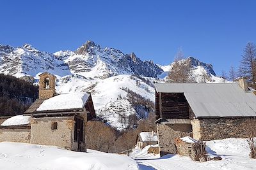
[[[47,72],[39,75],[39,99],[49,99],[56,94],[55,78],[56,76]]]

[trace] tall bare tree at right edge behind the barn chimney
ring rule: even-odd
[[[252,42],[246,44],[242,57],[239,71],[256,87],[256,46]]]

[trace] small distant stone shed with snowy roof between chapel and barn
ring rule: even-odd
[[[147,145],[156,145],[158,138],[156,132],[140,132],[137,138],[137,146],[139,149],[143,149]]]

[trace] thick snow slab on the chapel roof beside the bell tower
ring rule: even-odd
[[[45,100],[36,111],[81,109],[89,96],[87,93],[59,94]]]

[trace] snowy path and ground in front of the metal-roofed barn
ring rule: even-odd
[[[256,139],[256,138],[255,138]],[[189,169],[189,170],[246,170],[256,169],[256,159],[250,159],[249,146],[246,139],[221,139],[207,141],[207,152],[212,156],[220,156],[222,160],[211,160],[208,162],[194,162],[189,157],[180,155],[164,155],[159,158],[159,155],[147,153],[149,146],[143,150],[134,150],[131,157],[138,162],[140,169]]]

